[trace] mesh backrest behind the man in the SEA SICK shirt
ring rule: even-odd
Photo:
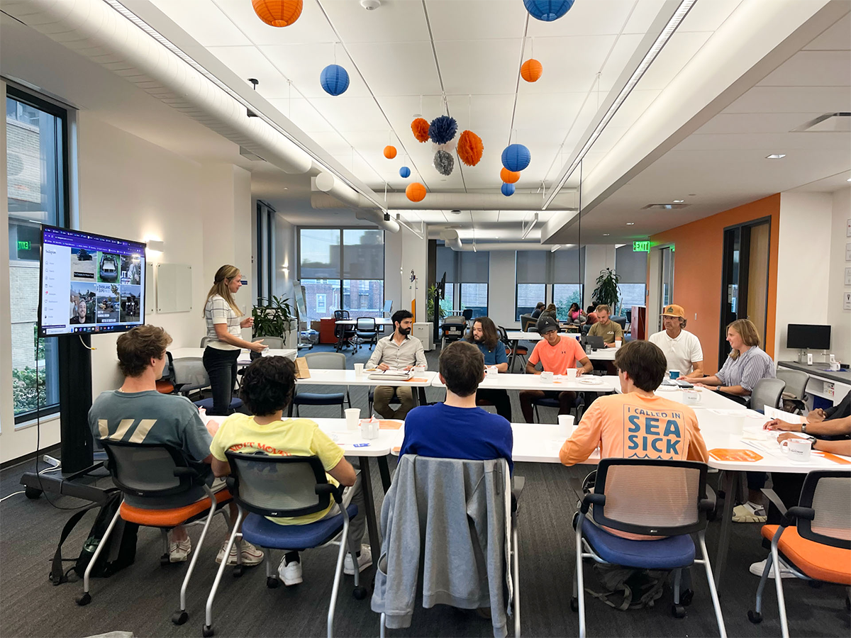
[[[700,510],[705,487],[703,463],[603,459],[594,492],[605,494],[606,504],[594,506],[594,521],[651,536],[696,532],[706,527],[705,511]]]

